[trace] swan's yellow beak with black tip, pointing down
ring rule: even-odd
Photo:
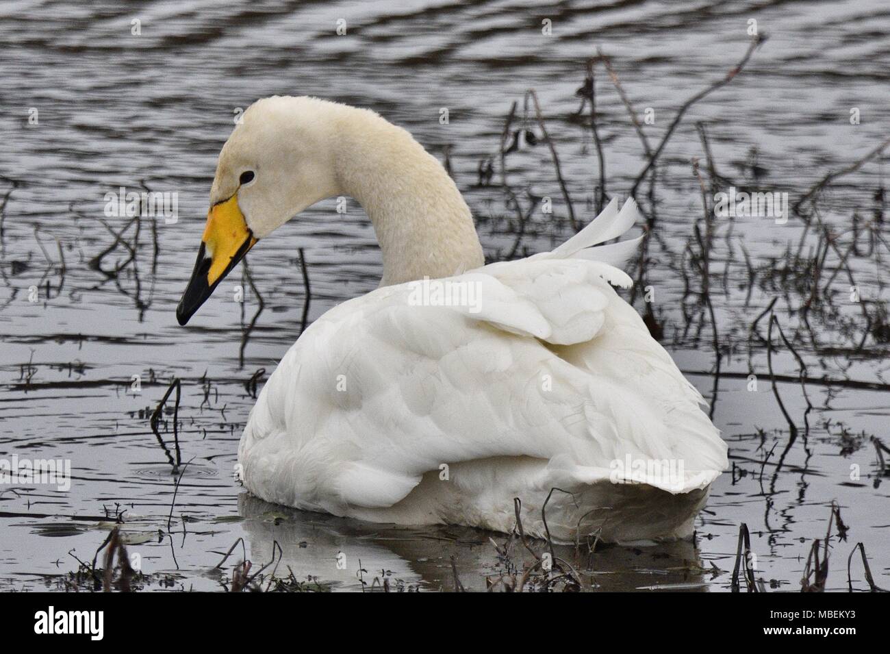
[[[215,204],[207,214],[207,226],[198,248],[198,260],[189,286],[176,307],[176,319],[185,325],[214,292],[229,271],[256,243],[238,207],[238,194]]]

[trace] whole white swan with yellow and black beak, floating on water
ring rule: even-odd
[[[257,240],[341,195],[374,224],[381,287],[317,319],[270,376],[239,446],[248,490],[504,532],[519,497],[526,532],[561,542],[692,533],[726,446],[611,287],[631,284],[612,264],[636,241],[590,249],[634,224],[632,200],[553,252],[485,266],[457,187],[408,132],[367,109],[268,98],[220,153],[180,323]]]

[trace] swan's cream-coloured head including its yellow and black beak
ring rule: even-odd
[[[198,260],[176,308],[180,325],[259,239],[337,195],[335,117],[343,108],[276,96],[256,101],[239,118],[216,166]]]

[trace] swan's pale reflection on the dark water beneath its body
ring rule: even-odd
[[[370,589],[375,579],[377,585],[387,579],[391,587],[407,590],[453,591],[454,557],[460,584],[466,590],[485,591],[487,580],[508,574],[511,566],[522,570],[533,562],[518,543],[510,548],[510,561],[505,561],[495,544],[504,545],[508,537],[480,529],[371,524],[271,505],[247,493],[239,496],[238,510],[245,518],[242,526],[255,565],[270,561],[277,543],[280,566],[291,569],[298,579],[333,582],[337,590],[360,590],[362,582]],[[532,546],[538,554],[547,552],[541,541]],[[691,541],[658,547],[599,544],[594,553],[586,545],[577,549],[554,545],[554,553],[578,569],[586,582],[583,590],[698,590],[706,588],[707,579],[724,574],[705,569]]]

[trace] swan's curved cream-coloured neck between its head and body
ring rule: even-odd
[[[337,130],[336,175],[374,224],[384,260],[380,285],[483,265],[473,216],[441,164],[401,127],[349,109]]]

